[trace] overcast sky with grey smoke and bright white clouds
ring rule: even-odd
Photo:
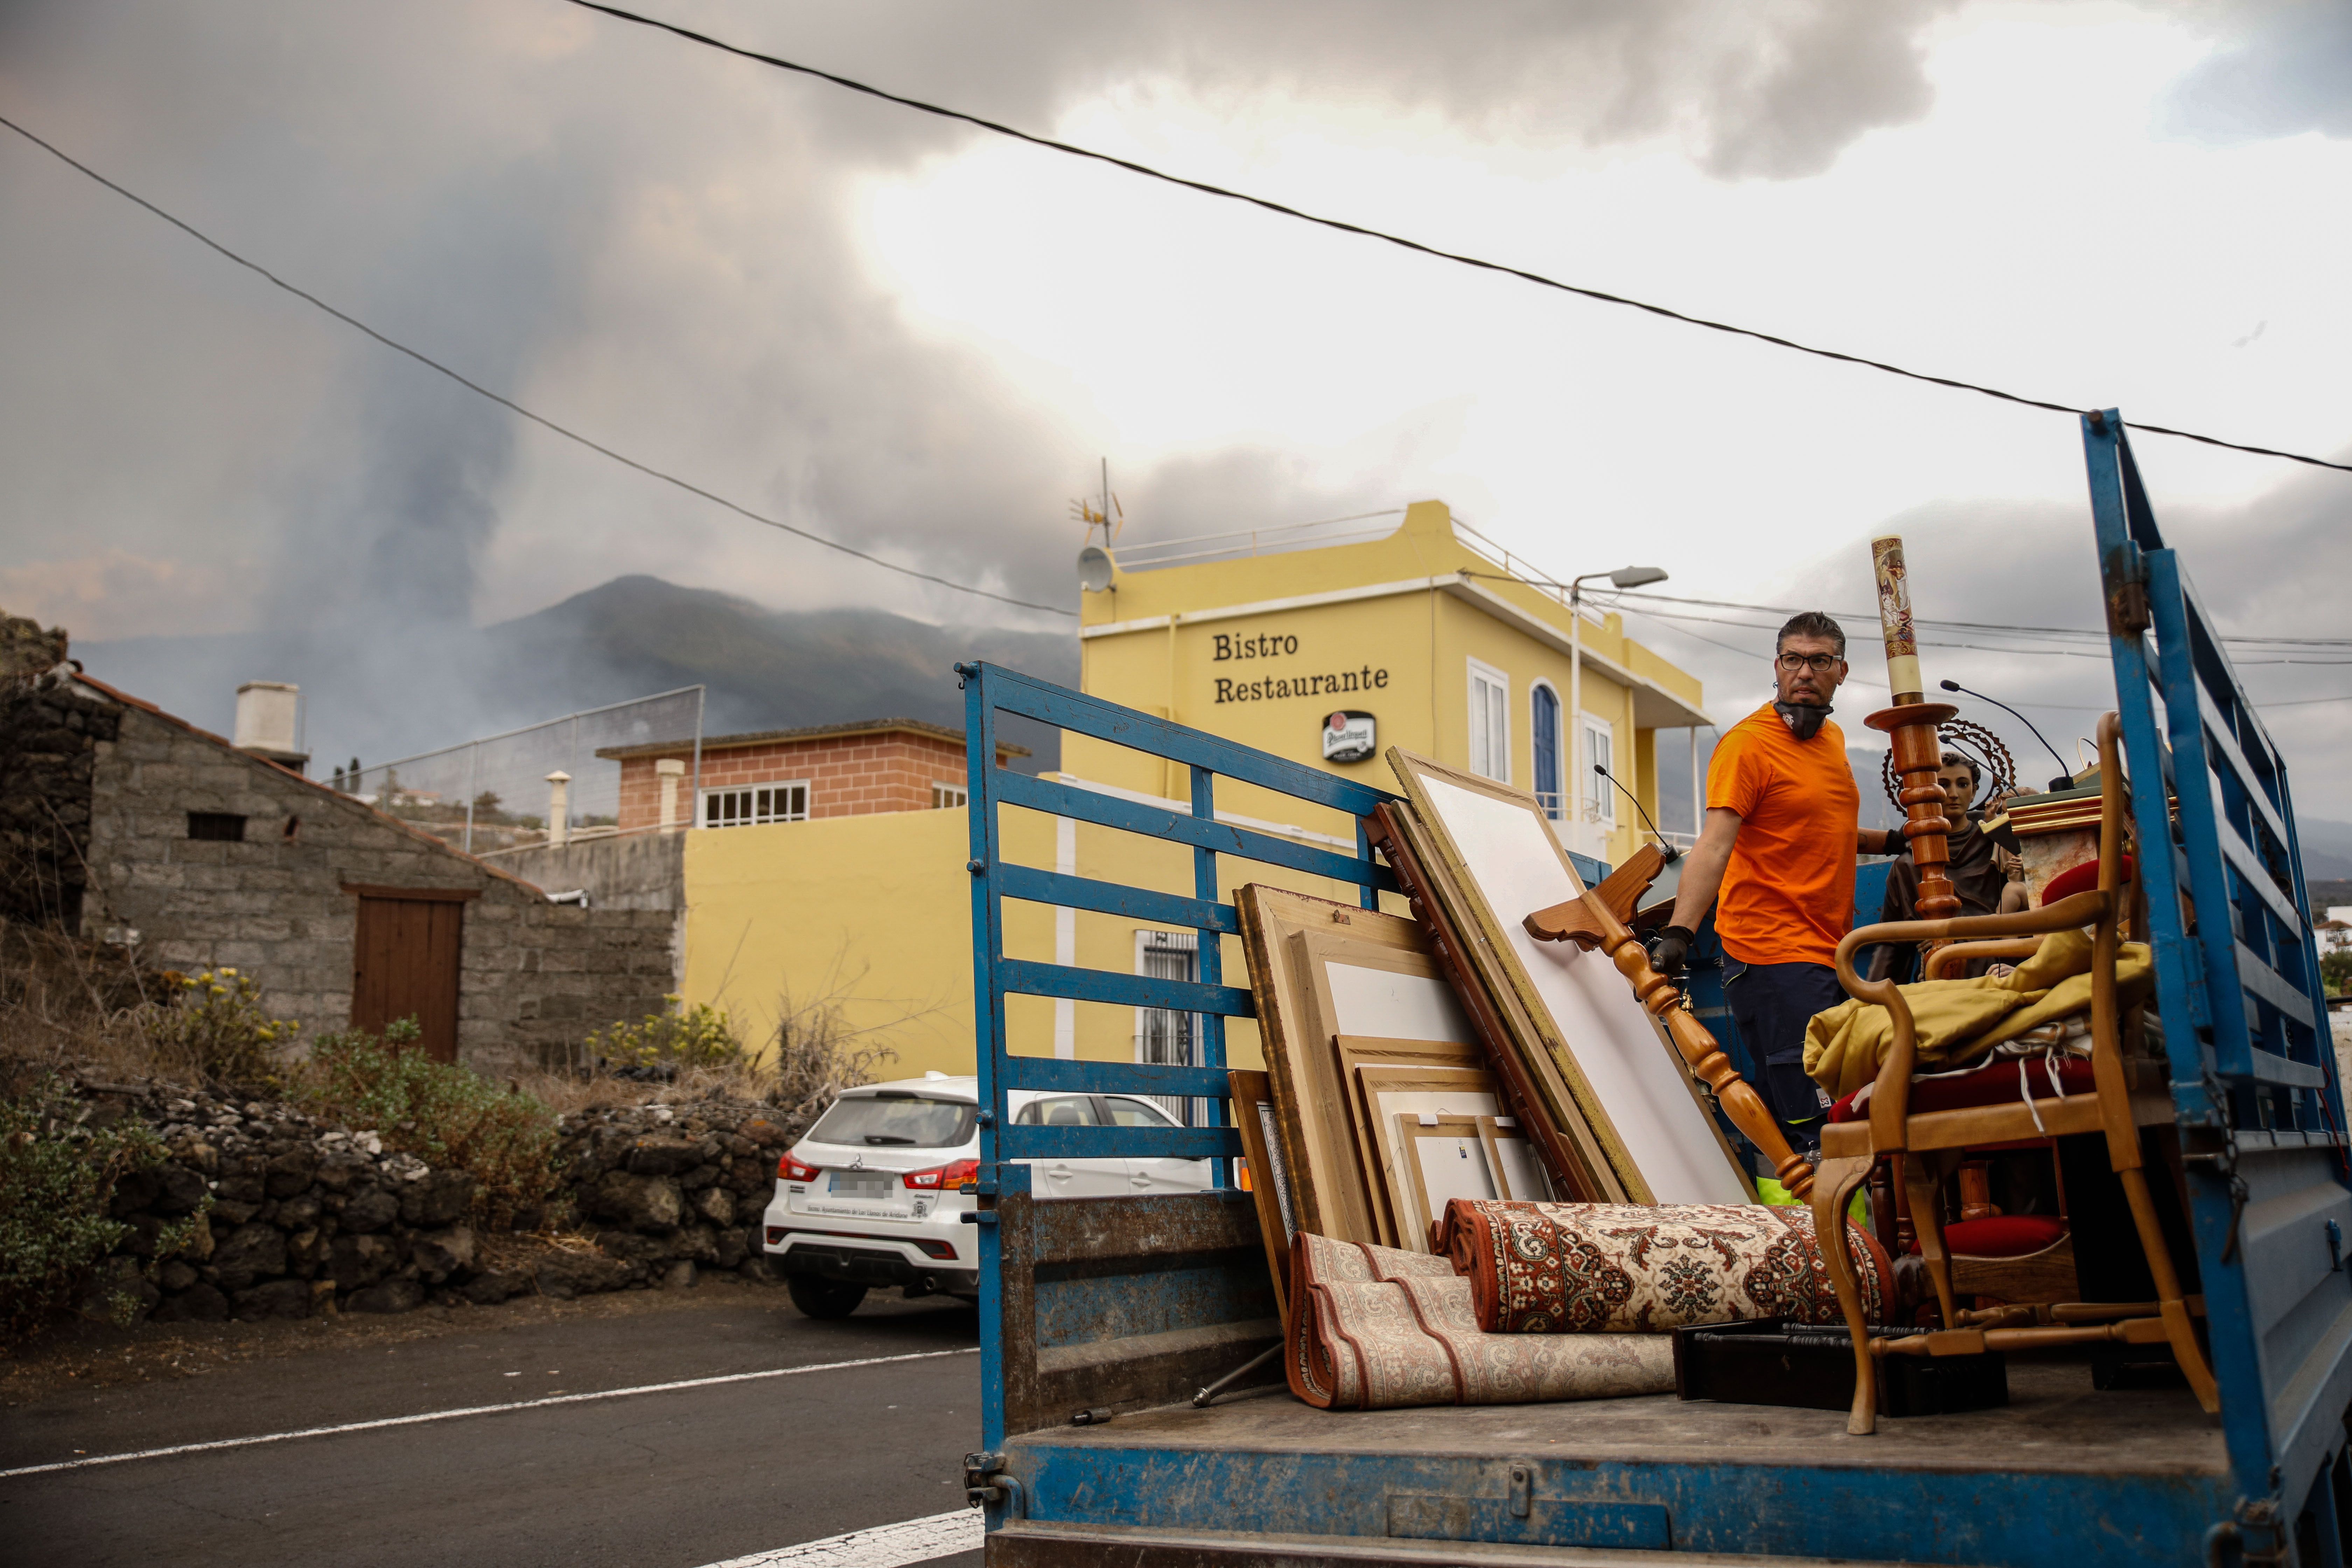
[[[2340,0],[659,9],[1590,287],[2352,454]],[[1016,597],[1075,602],[1068,498],[1108,456],[1129,543],[1439,496],[1562,576],[1656,562],[1663,592],[1863,609],[1865,541],[1893,529],[1922,616],[2098,616],[2067,416],[1136,181],[562,0],[0,0],[0,113],[550,418]],[[1051,623],[524,425],[7,132],[0,275],[0,604],[78,639],[428,642],[626,571]],[[2227,630],[2352,635],[2352,475],[2138,454]],[[1632,628],[1719,719],[1759,698],[1766,632]],[[2100,658],[1931,649],[1940,675],[2046,705],[2067,750],[2110,684]],[[2352,663],[2244,679],[2352,693]],[[2272,729],[2300,809],[2352,818],[2352,703]]]

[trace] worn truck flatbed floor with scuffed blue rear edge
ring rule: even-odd
[[[1750,1563],[2199,1559],[2234,1493],[2220,1422],[2187,1389],[2096,1392],[2084,1359],[2018,1356],[2009,1399],[1884,1420],[1877,1436],[1849,1436],[1844,1410],[1670,1394],[1315,1410],[1265,1392],[1167,1406],[1009,1439],[1028,1509],[1056,1523],[1007,1521],[990,1563],[1486,1561],[1463,1554],[1470,1542]]]

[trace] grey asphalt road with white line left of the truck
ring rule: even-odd
[[[818,1324],[781,1291],[699,1295],[71,1389],[7,1413],[0,1469],[976,1342],[948,1302]],[[978,1356],[955,1354],[12,1476],[0,1563],[701,1568],[960,1507],[978,1425]]]

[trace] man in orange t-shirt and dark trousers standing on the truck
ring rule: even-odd
[[[1773,701],[1708,764],[1708,816],[1656,954],[1661,973],[1682,973],[1715,905],[1731,1020],[1762,1065],[1757,1088],[1806,1159],[1818,1159],[1828,1107],[1804,1077],[1804,1025],[1846,999],[1832,959],[1853,929],[1853,858],[1903,849],[1900,832],[1858,825],[1846,736],[1830,724],[1844,679],[1844,628],[1820,611],[1792,616],[1773,642]]]

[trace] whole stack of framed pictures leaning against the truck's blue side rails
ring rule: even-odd
[[[1425,1253],[1456,1197],[1755,1201],[1625,976],[1526,931],[1585,896],[1536,797],[1388,762],[1406,799],[1367,830],[1418,919],[1235,893],[1265,1048],[1235,1114],[1275,1276],[1296,1232]]]

